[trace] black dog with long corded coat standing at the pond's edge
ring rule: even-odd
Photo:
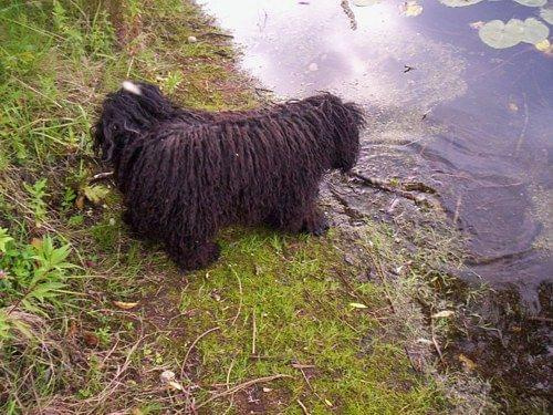
[[[181,108],[146,83],[109,94],[94,127],[114,166],[129,227],[161,241],[182,269],[215,261],[219,228],[267,224],[321,235],[319,184],[349,170],[361,110],[325,93],[244,112]]]

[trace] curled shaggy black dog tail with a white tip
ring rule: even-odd
[[[102,154],[102,160],[116,165],[126,145],[170,118],[175,111],[157,86],[125,81],[119,91],[104,101],[93,128],[94,148]]]

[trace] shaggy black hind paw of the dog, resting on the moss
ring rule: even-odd
[[[166,243],[166,250],[182,271],[205,268],[217,261],[221,252],[219,245],[211,241],[181,246]]]

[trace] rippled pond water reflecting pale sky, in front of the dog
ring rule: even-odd
[[[553,50],[547,41],[542,50],[524,42],[493,49],[479,29],[495,19],[535,18],[553,31],[540,14],[553,4],[466,1],[476,4],[204,6],[242,46],[243,68],[276,95],[324,90],[364,105],[369,127],[358,169],[383,179],[416,177],[437,189],[470,239],[466,278],[515,287],[538,312],[538,289],[553,281]],[[362,193],[346,197],[369,212]]]

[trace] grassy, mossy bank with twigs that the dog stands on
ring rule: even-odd
[[[390,293],[367,273],[383,272],[377,258],[396,270],[411,255],[385,226],[363,228],[356,263],[340,230],[228,229],[217,264],[184,276],[128,236],[117,194],[92,183],[102,166],[90,127],[123,79],[194,107],[255,105],[227,39],[196,6],[2,1],[0,56],[0,227],[21,252],[45,235],[69,245],[79,267],[56,273],[64,289],[33,310],[21,301],[33,287],[15,262],[4,270],[2,413],[432,414],[455,404],[414,366],[409,324],[420,317],[393,305],[445,258],[421,250]],[[44,190],[29,187],[44,178]],[[17,263],[33,269],[31,253]]]

